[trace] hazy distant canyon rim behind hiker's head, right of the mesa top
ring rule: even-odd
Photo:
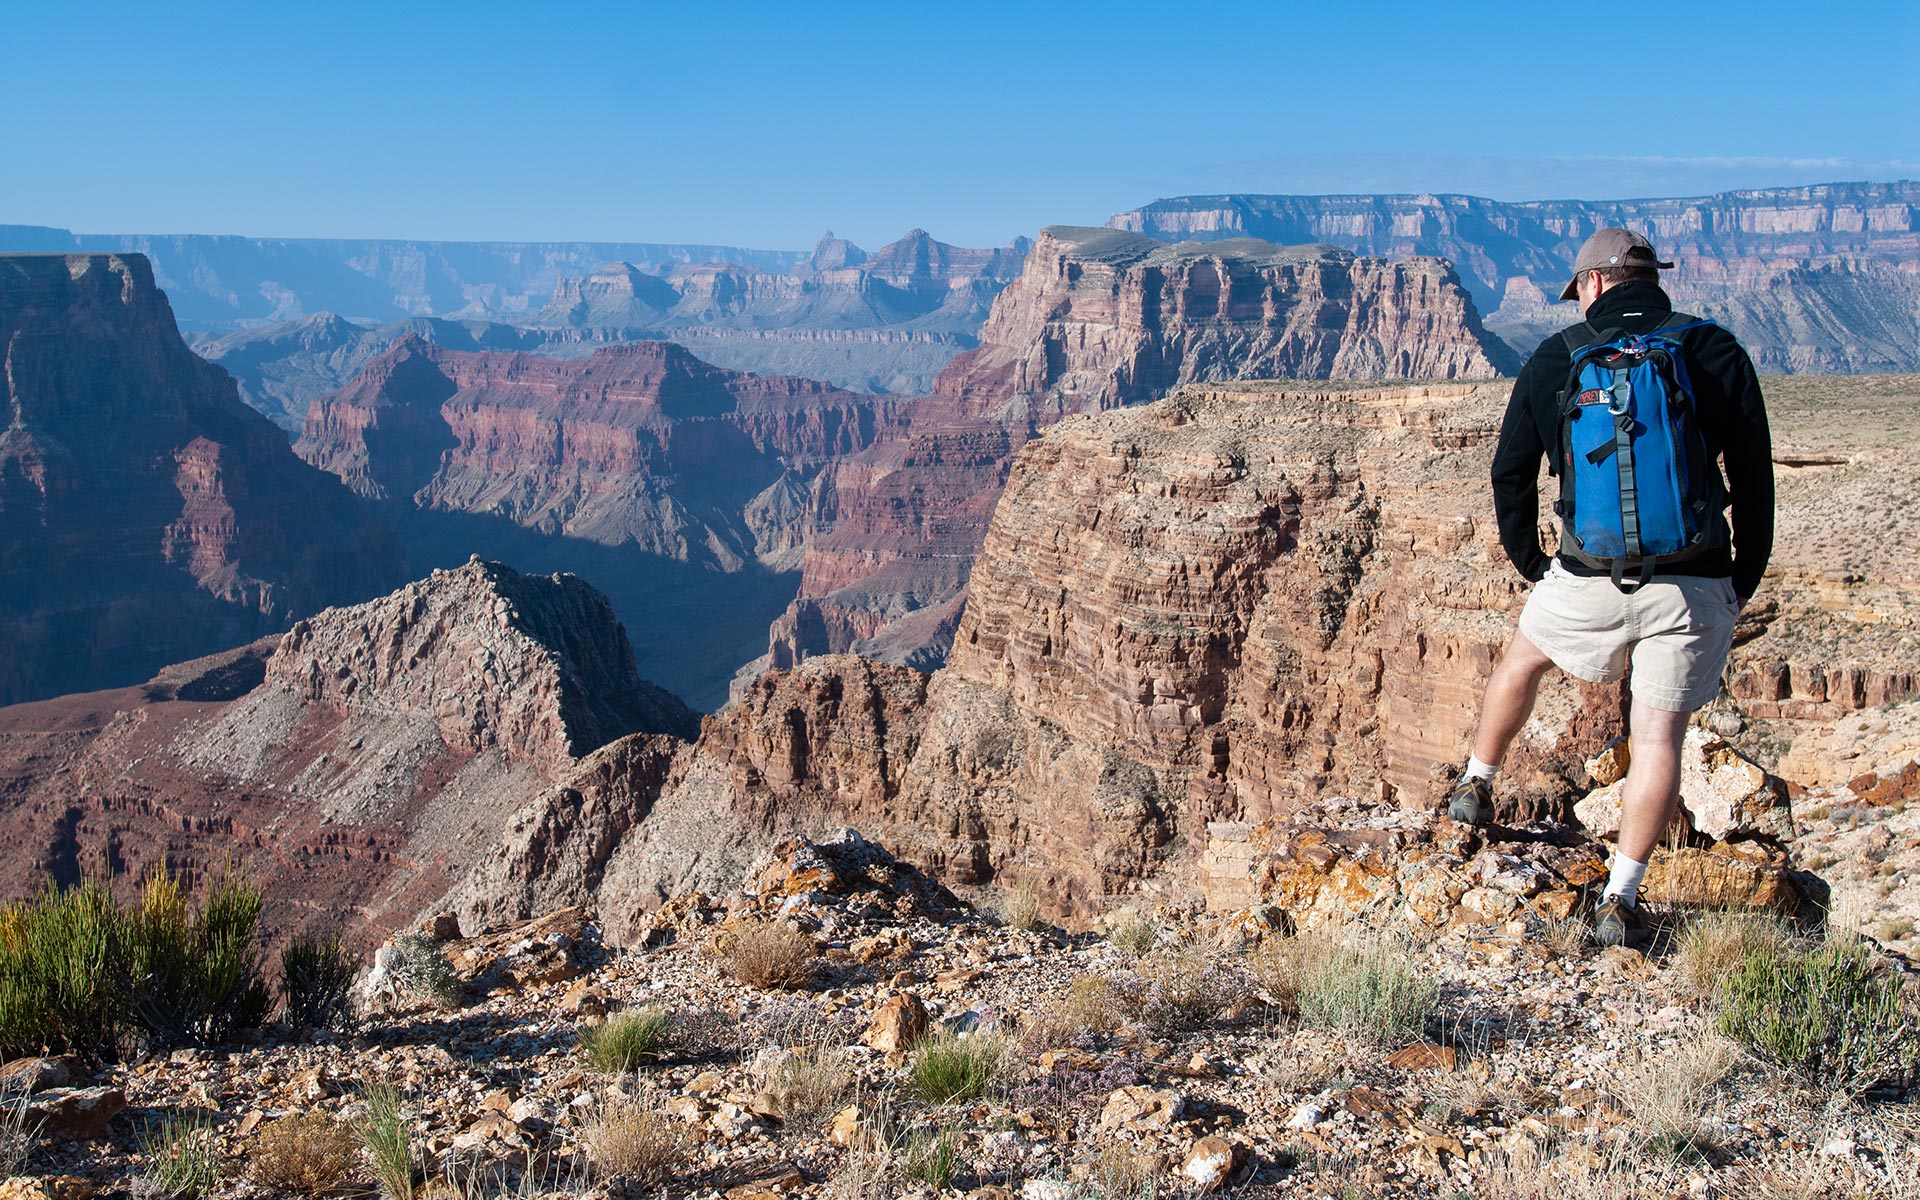
[[[1740,334],[1761,371],[1920,369],[1920,182],[1836,182],[1678,200],[1183,196],[1108,225],[1165,240],[1331,242],[1450,259],[1486,324],[1530,353],[1571,324],[1555,298],[1580,242],[1645,232],[1682,309]]]

